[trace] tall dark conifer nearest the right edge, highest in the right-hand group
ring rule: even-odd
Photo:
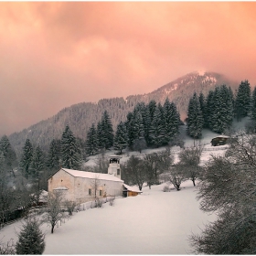
[[[248,115],[251,110],[251,86],[248,80],[241,81],[235,99],[235,116],[237,121]]]

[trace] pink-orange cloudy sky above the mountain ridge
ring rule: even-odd
[[[256,86],[256,2],[0,2],[0,135],[196,70]]]

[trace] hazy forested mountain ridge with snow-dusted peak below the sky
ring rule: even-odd
[[[52,139],[60,139],[67,124],[77,137],[85,139],[91,124],[97,125],[104,111],[109,112],[115,130],[118,123],[126,121],[126,115],[133,111],[137,102],[148,103],[155,100],[163,104],[166,97],[176,103],[181,120],[184,120],[187,117],[188,101],[195,91],[198,94],[202,91],[206,95],[209,90],[222,84],[230,86],[235,91],[240,81],[229,80],[224,75],[214,72],[191,72],[144,95],[130,95],[126,99],[123,97],[102,99],[98,103],[81,102],[71,105],[47,120],[33,124],[19,133],[12,133],[9,135],[9,140],[18,157],[27,138],[33,145],[38,144],[43,150],[48,150]]]

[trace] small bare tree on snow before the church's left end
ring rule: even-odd
[[[48,192],[48,208],[43,214],[43,221],[50,224],[51,233],[53,233],[58,221],[65,218],[65,214],[61,208],[62,203],[63,196],[61,192]]]

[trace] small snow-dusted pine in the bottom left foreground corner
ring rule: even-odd
[[[45,246],[45,236],[40,230],[37,220],[28,219],[18,234],[16,254],[43,254]]]

